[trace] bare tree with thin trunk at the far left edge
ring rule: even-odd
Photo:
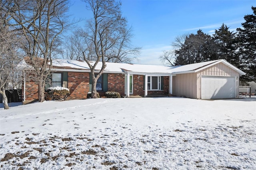
[[[20,83],[17,64],[21,58],[18,49],[22,45],[20,32],[9,26],[10,15],[0,8],[0,94],[3,96],[4,109],[9,109],[6,90]]]

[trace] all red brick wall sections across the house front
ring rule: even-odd
[[[68,100],[72,99],[86,99],[87,93],[90,91],[90,73],[82,72],[68,72],[68,89],[70,90],[70,96]],[[124,74],[108,73],[108,91],[116,91],[121,96],[124,94]],[[22,97],[24,92],[24,86],[22,86]],[[133,94],[134,96],[144,96],[144,76],[133,75]],[[169,93],[169,77],[164,76],[164,90],[163,91],[148,91],[148,96],[151,95],[168,95]],[[104,93],[100,93],[100,96],[104,96]],[[23,99],[23,98],[22,98]],[[38,85],[33,81],[26,81],[26,100],[38,99]]]

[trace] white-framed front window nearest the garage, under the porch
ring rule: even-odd
[[[148,90],[163,90],[163,76],[148,76]]]

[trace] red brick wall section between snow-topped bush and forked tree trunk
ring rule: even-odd
[[[68,72],[68,99],[86,99],[90,89],[89,80],[90,73]]]

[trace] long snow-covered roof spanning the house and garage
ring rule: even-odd
[[[94,65],[94,61],[90,61],[91,65]],[[236,68],[234,65],[228,63],[224,59],[218,59],[214,61],[206,61],[202,63],[194,63],[188,65],[180,66],[164,66],[164,65],[142,65],[142,64],[127,64],[127,63],[109,63],[106,62],[106,68],[104,72],[108,73],[166,73],[166,74],[182,74],[182,73],[195,73],[217,63],[224,63],[225,65],[236,70],[240,75],[245,75],[243,71]],[[68,59],[54,59],[52,62],[54,68],[63,68],[63,69],[79,69],[79,70],[88,70],[90,68],[85,61],[77,60],[68,60]],[[102,63],[99,62],[96,66],[96,70],[100,70]]]

